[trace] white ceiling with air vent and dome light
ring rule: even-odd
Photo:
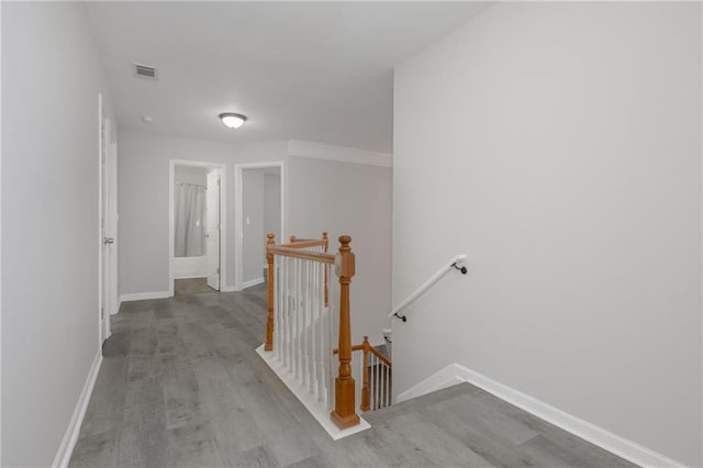
[[[486,7],[144,1],[88,11],[121,129],[391,153],[393,67]],[[158,81],[134,77],[132,63],[157,67]],[[221,112],[248,121],[230,130]]]

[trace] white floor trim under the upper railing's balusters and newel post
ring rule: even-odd
[[[276,353],[265,352],[264,345],[256,348],[256,353],[271,368],[274,374],[276,374],[276,376],[286,383],[286,387],[288,387],[295,398],[298,398],[298,401],[305,406],[310,414],[317,420],[317,423],[320,423],[322,428],[326,431],[327,435],[330,435],[333,441],[348,437],[371,427],[364,417],[359,416],[359,424],[345,430],[339,430],[339,427],[337,427],[330,419],[330,410],[327,409],[327,405],[317,400],[314,393],[312,393],[306,386],[300,383],[300,380],[295,378],[294,374],[291,374],[287,367],[280,364],[275,356]]]

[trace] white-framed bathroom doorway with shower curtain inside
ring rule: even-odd
[[[225,285],[224,175],[224,164],[170,161],[170,296],[220,291]]]

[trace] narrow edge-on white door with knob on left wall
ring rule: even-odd
[[[110,257],[114,237],[110,232],[108,213],[110,212],[110,120],[102,118],[100,124],[100,234],[102,248],[100,250],[100,341],[110,337]]]

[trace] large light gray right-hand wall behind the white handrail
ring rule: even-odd
[[[456,361],[701,466],[700,8],[498,3],[397,68],[393,300],[469,275],[395,392]]]

